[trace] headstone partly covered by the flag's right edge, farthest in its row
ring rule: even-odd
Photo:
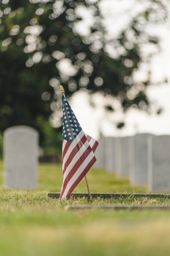
[[[98,147],[95,151],[96,162],[93,165],[95,168],[105,169],[105,137],[98,140]]]

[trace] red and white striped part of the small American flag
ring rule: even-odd
[[[72,142],[63,139],[63,185],[60,200],[69,199],[74,188],[96,162],[98,142],[83,130]]]

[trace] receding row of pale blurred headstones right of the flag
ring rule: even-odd
[[[96,167],[129,177],[132,185],[147,185],[149,191],[170,191],[169,135],[102,137],[99,145]]]

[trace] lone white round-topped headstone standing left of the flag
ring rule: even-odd
[[[32,189],[37,186],[38,132],[13,126],[4,132],[4,186]]]

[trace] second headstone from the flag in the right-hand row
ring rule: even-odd
[[[110,173],[115,173],[115,138],[105,138],[105,169]]]

